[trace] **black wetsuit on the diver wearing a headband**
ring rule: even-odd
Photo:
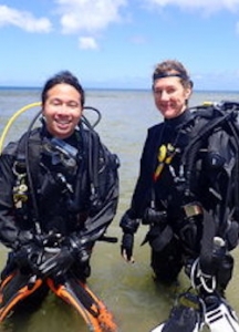
[[[132,218],[143,219],[143,224],[149,225],[146,241],[152,246],[152,267],[163,281],[174,280],[188,259],[200,256],[206,225],[202,215],[206,214],[189,218],[185,206],[193,205],[195,209],[205,209],[212,216],[215,235],[219,234],[220,225],[225,222],[226,207],[227,217],[231,216],[235,207],[235,188],[230,185],[231,179],[237,179],[233,173],[235,142],[227,128],[218,127],[201,137],[198,144],[195,137],[200,135],[207,123],[208,120],[201,120],[187,110],[176,118],[150,127],[144,145],[129,214]],[[196,153],[194,145],[189,149],[187,156],[194,154],[194,158],[188,165],[184,153],[193,139],[198,147]],[[164,160],[159,166],[162,146],[169,153],[162,157]],[[162,169],[156,176],[158,167]],[[190,175],[187,174],[188,167]],[[152,208],[154,216],[157,211],[164,211],[166,218],[155,221],[154,216],[148,217],[147,214],[145,217],[148,208]],[[226,227],[221,229],[219,236],[226,238]]]

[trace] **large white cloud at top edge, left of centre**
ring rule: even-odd
[[[55,0],[63,33],[97,32],[121,21],[127,0]]]

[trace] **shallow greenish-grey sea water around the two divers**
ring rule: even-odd
[[[23,106],[39,102],[38,89],[0,89],[0,134],[8,121]],[[195,92],[190,106],[202,102],[236,101],[236,92]],[[138,175],[139,157],[147,128],[162,121],[150,91],[133,90],[89,90],[86,105],[100,110],[102,118],[95,129],[107,147],[121,159],[121,197],[117,215],[107,235],[118,238],[115,245],[100,242],[92,257],[90,288],[113,312],[118,332],[149,332],[167,319],[176,293],[189,287],[188,279],[181,273],[179,286],[165,288],[155,283],[149,267],[149,250],[141,246],[146,234],[142,226],[135,238],[135,263],[128,264],[121,257],[119,218],[128,208],[132,191]],[[33,107],[17,116],[6,133],[3,145],[17,139],[32,122],[40,107]],[[96,113],[86,111],[85,116],[93,123]],[[239,314],[239,252],[236,258],[233,278],[227,289],[227,299]],[[4,266],[7,249],[0,247],[0,269]],[[0,332],[86,332],[81,317],[54,295],[49,295],[42,307],[32,314],[22,317],[17,323],[6,322]]]

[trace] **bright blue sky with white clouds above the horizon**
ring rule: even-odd
[[[177,59],[196,90],[239,91],[239,0],[0,0],[0,85],[72,71],[84,87],[149,89]]]

